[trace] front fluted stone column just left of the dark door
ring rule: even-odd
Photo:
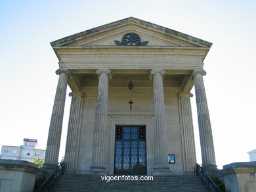
[[[106,127],[108,125],[108,76],[110,69],[98,69],[98,96],[93,134],[93,159],[91,171],[106,172]]]

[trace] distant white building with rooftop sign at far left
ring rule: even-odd
[[[40,157],[45,159],[45,150],[36,149],[37,140],[24,138],[24,144],[18,146],[2,145],[0,159],[13,159],[33,161],[33,159]]]

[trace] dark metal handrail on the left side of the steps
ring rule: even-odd
[[[67,166],[64,162],[58,164],[58,168],[51,173],[51,175],[43,182],[43,184],[37,189],[35,192],[48,192],[51,187],[53,187],[54,183],[60,178],[61,175],[64,175],[66,172]]]

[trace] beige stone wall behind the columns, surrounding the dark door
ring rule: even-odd
[[[112,80],[110,80],[112,81]],[[118,90],[117,90],[118,89]],[[119,94],[117,94],[117,91]],[[183,174],[184,155],[182,154],[181,141],[181,119],[179,116],[179,93],[171,92],[165,89],[165,111],[167,123],[167,152],[175,154],[175,164],[168,164],[174,174]],[[129,100],[135,102],[130,109]],[[152,115],[153,115],[152,88],[135,87],[132,91],[127,87],[110,87],[108,100],[108,172],[114,174],[114,140],[111,134],[115,134],[116,125],[146,125],[147,131],[147,166],[148,174],[152,173],[153,151],[152,149]],[[83,111],[81,121],[81,132],[79,138],[79,155],[76,172],[89,173],[92,159],[93,128],[96,106],[96,87],[88,88],[83,98]],[[194,139],[194,138],[193,138]],[[195,149],[194,149],[195,150]],[[196,162],[193,162],[193,164]]]

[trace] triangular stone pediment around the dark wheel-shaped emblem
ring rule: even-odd
[[[211,43],[202,39],[133,17],[64,37],[63,39],[53,41],[51,45],[54,48],[125,46],[122,43],[123,37],[127,33],[139,35],[139,46],[211,47]]]

